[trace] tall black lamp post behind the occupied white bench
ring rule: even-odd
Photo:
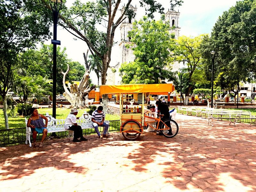
[[[62,0],[49,0],[52,8],[53,15],[53,67],[52,67],[52,117],[56,118],[56,60],[57,60],[57,44],[60,45],[60,41],[57,41],[57,23],[58,15],[62,5]]]

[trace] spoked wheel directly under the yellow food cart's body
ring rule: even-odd
[[[142,128],[140,127],[140,124],[137,121],[129,120],[129,121],[124,122],[124,124],[121,128],[122,135],[127,140],[136,140],[137,138],[140,137],[140,133],[138,133],[134,130],[129,130],[131,128],[138,132],[142,132]],[[127,130],[127,131],[123,132],[125,130]]]

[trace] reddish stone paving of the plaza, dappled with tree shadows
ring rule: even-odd
[[[177,115],[179,134],[119,132],[0,148],[0,191],[256,191],[256,127]]]

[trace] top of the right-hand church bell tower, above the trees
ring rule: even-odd
[[[165,13],[165,21],[170,22],[170,27],[175,27],[171,29],[170,32],[175,34],[175,39],[178,39],[180,36],[180,27],[179,27],[179,20],[180,20],[180,12],[176,12],[173,8],[168,9]]]

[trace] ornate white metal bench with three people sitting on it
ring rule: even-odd
[[[64,129],[65,119],[55,119],[48,113],[46,113],[45,116],[48,118],[48,124],[46,127],[47,133],[68,131],[68,139],[70,138],[70,135],[72,135],[74,137],[74,131]],[[83,116],[81,116],[79,119],[77,119],[76,122],[78,125],[80,125],[82,127],[82,129],[94,128],[92,126],[92,123],[93,123],[92,116],[90,116],[86,113]],[[109,121],[105,120],[105,122],[107,124],[109,124]],[[26,141],[25,141],[25,143],[26,144],[29,143],[29,147],[31,147],[32,144],[30,141],[30,137],[31,137],[32,131],[31,131],[30,127],[27,127],[27,123],[28,123],[28,119],[25,117],[25,124],[26,124]],[[103,131],[104,131],[104,129],[103,129]],[[109,132],[107,132],[107,134],[109,135]]]

